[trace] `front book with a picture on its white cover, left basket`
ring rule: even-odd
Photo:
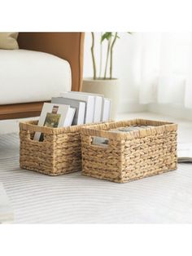
[[[75,115],[75,108],[63,104],[43,104],[38,126],[51,128],[71,126]],[[34,140],[41,140],[41,132],[36,132]]]

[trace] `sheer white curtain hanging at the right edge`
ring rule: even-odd
[[[141,104],[192,108],[192,33],[140,33]]]

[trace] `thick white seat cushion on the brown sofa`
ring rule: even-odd
[[[50,100],[71,86],[68,61],[39,51],[0,50],[0,104]]]

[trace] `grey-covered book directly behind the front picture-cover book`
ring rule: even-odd
[[[76,113],[72,121],[72,126],[83,125],[85,121],[85,107],[84,101],[79,101],[77,99],[67,99],[63,97],[52,97],[52,104],[65,104],[70,105],[71,108],[76,108]]]

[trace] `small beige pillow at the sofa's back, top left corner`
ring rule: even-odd
[[[0,33],[0,49],[15,50],[19,49],[17,43],[18,33],[15,32],[1,32]]]

